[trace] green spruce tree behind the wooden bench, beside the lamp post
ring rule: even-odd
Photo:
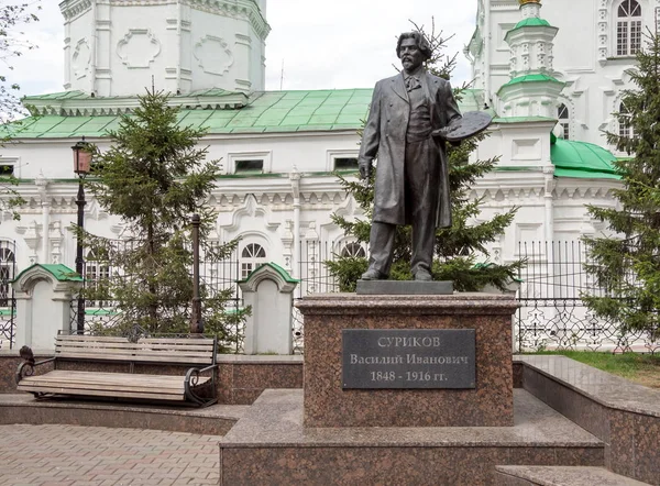
[[[210,245],[215,214],[208,206],[219,175],[217,161],[206,162],[208,147],[198,145],[204,130],[180,126],[178,109],[162,92],[147,91],[140,107],[123,115],[110,132],[111,146],[97,151],[87,183],[99,205],[121,217],[131,239],[125,245],[81,233],[97,255],[107,255],[117,272],[88,289],[87,298],[116,300],[119,329],[140,325],[147,332],[187,332],[193,298],[190,216],[201,217],[200,242],[207,258],[228,257],[237,242]],[[224,312],[232,290],[215,291],[201,285],[206,332],[223,341],[242,313]]]

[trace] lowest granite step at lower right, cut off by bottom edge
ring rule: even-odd
[[[603,467],[496,466],[496,486],[644,486]]]

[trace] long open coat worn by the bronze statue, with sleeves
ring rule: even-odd
[[[422,89],[430,100],[431,124],[433,130],[447,126],[461,115],[449,81],[424,73]],[[410,224],[410,208],[406,208],[405,197],[405,154],[406,131],[410,118],[408,93],[404,76],[399,74],[376,84],[371,110],[360,150],[360,161],[373,161],[377,155],[376,185],[374,196],[374,221],[391,224]],[[451,227],[451,202],[449,190],[449,167],[446,144],[437,142],[436,172],[438,180],[428,180],[439,190],[436,208],[436,227]],[[411,161],[410,163],[414,163]],[[425,177],[425,174],[420,175]]]

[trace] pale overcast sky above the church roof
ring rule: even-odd
[[[11,82],[22,95],[63,91],[64,27],[58,0],[42,0],[41,21],[25,29],[35,51],[13,59]],[[429,27],[435,18],[446,36],[455,34],[447,53],[459,52],[453,84],[470,78],[462,54],[474,31],[476,0],[270,0],[266,40],[266,89],[369,88],[392,76],[396,36],[411,30],[409,20]]]

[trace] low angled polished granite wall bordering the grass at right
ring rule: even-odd
[[[660,390],[564,356],[517,356],[521,385],[605,444],[616,474],[660,485]]]

